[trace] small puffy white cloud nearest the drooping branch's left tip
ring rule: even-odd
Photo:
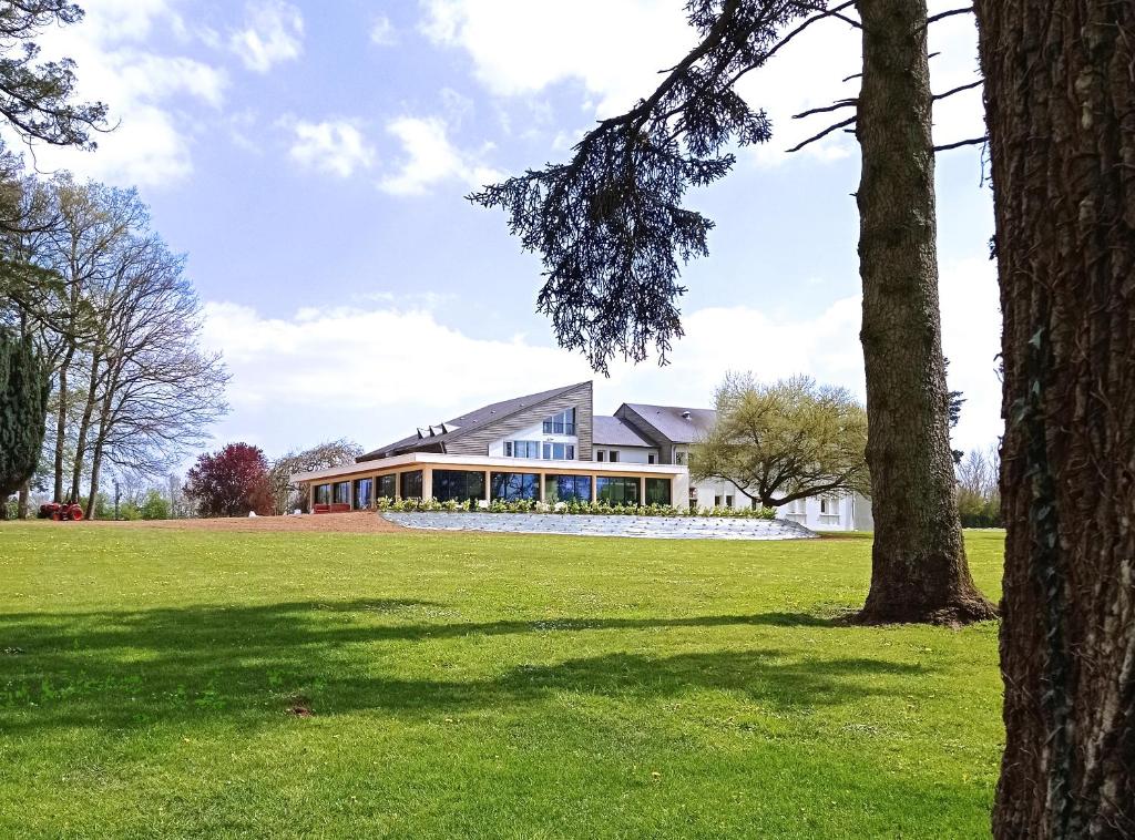
[[[481,161],[488,148],[481,152],[459,149],[438,117],[398,117],[386,129],[401,141],[404,154],[398,170],[379,182],[379,188],[392,195],[421,195],[447,180],[479,187],[501,178]]]

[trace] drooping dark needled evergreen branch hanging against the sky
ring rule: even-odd
[[[771,138],[767,115],[734,84],[788,41],[781,33],[790,23],[818,8],[690,0],[700,43],[650,95],[588,132],[569,163],[530,169],[469,196],[503,209],[524,250],[539,252],[545,284],[537,309],[550,316],[560,344],[582,351],[594,369],[606,372],[620,354],[644,361],[651,346],[665,359],[683,335],[681,263],[708,253],[713,228],[682,205],[686,191],[732,168],[726,144]]]

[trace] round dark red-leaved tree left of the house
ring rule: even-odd
[[[202,516],[246,516],[274,512],[268,461],[250,444],[229,444],[201,455],[186,476],[185,495]]]

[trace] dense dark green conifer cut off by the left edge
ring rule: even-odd
[[[31,336],[0,329],[0,499],[35,472],[43,446],[50,383]]]

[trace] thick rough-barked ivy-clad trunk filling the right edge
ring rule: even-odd
[[[1000,838],[1135,837],[1135,5],[978,0],[1004,313]]]

